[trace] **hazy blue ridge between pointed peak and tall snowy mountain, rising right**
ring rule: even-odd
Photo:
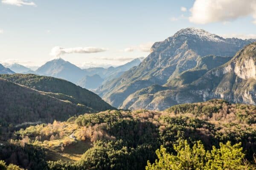
[[[124,65],[109,68],[87,68],[84,69],[88,75],[84,76],[77,82],[77,85],[83,88],[97,89],[102,84],[108,83],[112,79],[120,77],[125,71],[137,66],[142,62],[144,57],[136,58]]]

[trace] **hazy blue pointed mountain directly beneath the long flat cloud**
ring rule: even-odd
[[[72,63],[58,58],[46,62],[35,71],[39,75],[52,76],[77,83],[79,79],[87,75],[87,72]]]

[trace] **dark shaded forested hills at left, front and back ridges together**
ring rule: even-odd
[[[0,74],[0,124],[52,122],[72,115],[114,109],[71,82],[34,74]]]

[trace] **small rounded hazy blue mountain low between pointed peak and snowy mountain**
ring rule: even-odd
[[[85,76],[80,79],[77,85],[87,89],[95,89],[102,84],[103,80],[98,74],[94,74],[93,76]]]

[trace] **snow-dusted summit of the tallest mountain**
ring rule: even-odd
[[[201,40],[207,40],[207,41],[215,41],[215,42],[225,41],[224,38],[216,34],[211,34],[201,28],[194,28],[194,27],[181,29],[180,31],[177,31],[173,37],[177,37],[180,35],[193,35],[193,36],[197,36]]]

